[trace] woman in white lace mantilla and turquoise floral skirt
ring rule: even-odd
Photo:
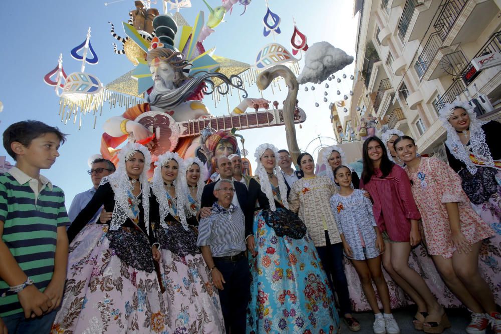
[[[278,150],[260,145],[249,182],[256,257],[249,255],[247,333],[337,333],[338,314],[329,282],[305,224],[289,209],[289,188],[277,168]]]

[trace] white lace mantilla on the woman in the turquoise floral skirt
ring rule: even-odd
[[[287,185],[285,184],[284,175],[280,173],[277,160],[278,160],[278,149],[272,144],[262,144],[258,146],[256,149],[256,153],[254,153],[254,157],[256,158],[256,162],[258,163],[258,167],[256,168],[255,175],[259,176],[261,191],[263,191],[268,198],[268,203],[270,204],[270,210],[276,211],[277,207],[275,206],[275,198],[273,197],[272,184],[270,183],[270,178],[268,177],[268,173],[266,172],[265,167],[261,163],[261,157],[265,153],[266,150],[272,150],[275,154],[275,167],[273,168],[273,173],[277,177],[279,181],[279,190],[280,197],[282,198],[282,203],[284,206],[289,209],[289,202],[287,201]]]

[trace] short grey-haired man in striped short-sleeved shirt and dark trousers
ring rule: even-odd
[[[219,289],[219,299],[226,333],[244,333],[249,299],[250,273],[245,256],[245,217],[231,203],[235,189],[228,179],[217,181],[210,216],[198,226],[196,244]]]

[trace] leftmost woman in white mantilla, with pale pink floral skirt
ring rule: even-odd
[[[68,278],[53,333],[167,330],[167,309],[153,263],[160,253],[149,219],[150,161],[144,146],[125,145],[116,172],[101,180],[68,229]],[[113,212],[111,221],[85,226],[102,205]]]

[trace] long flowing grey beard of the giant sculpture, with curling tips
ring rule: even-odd
[[[234,76],[232,76],[234,77]],[[221,89],[221,86],[217,87],[217,90],[220,94],[226,94],[228,92],[229,87],[232,86],[243,91],[245,94],[243,98],[247,97],[247,92],[241,88],[241,86],[234,85],[231,83],[231,79],[226,77],[222,73],[211,72],[204,73],[200,76],[189,78],[184,81],[180,87],[168,89],[168,88],[158,88],[157,85],[153,86],[153,90],[150,95],[146,98],[146,101],[154,107],[161,109],[172,109],[181,103],[185,102],[189,96],[193,94],[193,92],[198,88],[198,86],[202,83],[205,83],[211,86],[212,90],[207,89],[205,87],[202,92],[204,94],[212,94],[214,90],[214,83],[210,78],[218,78],[223,81],[226,86],[226,89]],[[239,78],[238,78],[239,79]],[[241,82],[241,80],[240,80]]]

